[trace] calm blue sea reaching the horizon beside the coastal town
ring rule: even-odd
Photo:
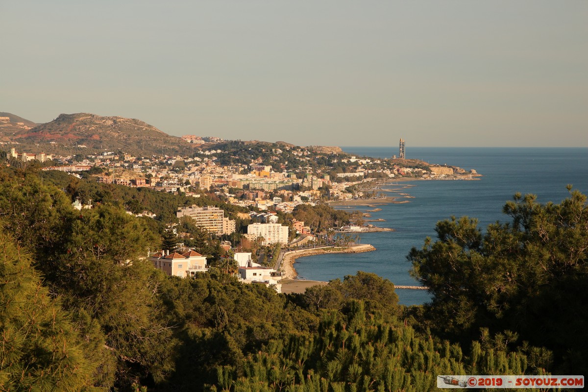
[[[397,147],[342,147],[356,156],[391,158]],[[588,194],[587,148],[407,148],[406,158],[429,163],[475,169],[480,180],[430,180],[399,182],[385,189],[398,189],[413,198],[409,203],[377,206],[370,219],[385,219],[376,226],[395,232],[362,234],[361,242],[376,251],[358,254],[324,254],[301,257],[294,264],[299,276],[309,280],[343,279],[358,271],[373,272],[397,285],[415,286],[406,256],[412,247],[422,247],[427,236],[435,239],[435,225],[451,216],[476,217],[479,227],[507,222],[502,207],[516,192],[533,193],[541,203],[560,203],[569,196],[567,184]],[[393,193],[386,192],[387,195]],[[402,200],[402,199],[399,199]],[[360,207],[360,210],[370,209]],[[422,304],[430,300],[425,290],[398,289],[401,304]]]

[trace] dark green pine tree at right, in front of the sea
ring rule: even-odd
[[[412,273],[433,293],[433,329],[473,337],[480,327],[510,330],[553,350],[562,374],[588,369],[588,206],[572,191],[559,205],[520,194],[503,212],[512,221],[486,233],[462,217],[437,224],[437,240],[412,249]]]

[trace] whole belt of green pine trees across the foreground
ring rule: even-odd
[[[512,222],[485,233],[440,222],[408,256],[433,301],[407,309],[369,273],[297,295],[220,268],[164,276],[145,260],[161,233],[122,208],[138,190],[78,211],[58,180],[0,172],[2,390],[423,391],[438,374],[586,373],[580,193],[517,196]]]

